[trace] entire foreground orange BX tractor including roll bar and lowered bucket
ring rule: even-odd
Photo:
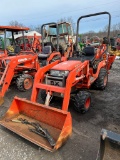
[[[94,85],[97,89],[105,89],[108,81],[108,39],[111,16],[101,12],[82,16],[86,17],[107,14],[109,16],[108,35],[98,48],[87,46],[83,52],[78,51],[76,37],[76,55],[62,58],[40,68],[34,79],[31,100],[15,97],[0,124],[31,142],[49,151],[57,150],[72,133],[72,118],[68,112],[70,98],[74,108],[85,113],[91,106],[91,94],[88,89]],[[38,104],[39,96],[45,104]],[[52,97],[63,98],[62,109],[49,107]]]

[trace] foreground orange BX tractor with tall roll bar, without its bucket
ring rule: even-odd
[[[94,87],[103,90],[108,82],[108,70],[111,65],[111,57],[108,54],[111,16],[108,12],[102,12],[82,16],[77,21],[76,37],[81,19],[101,14],[109,16],[107,37],[103,40],[96,36],[92,37],[91,44],[86,46],[82,52],[79,52],[77,48],[76,38],[76,56],[39,69],[32,90],[31,100],[33,102],[37,101],[40,89],[41,98],[46,105],[49,105],[52,97],[59,96],[63,97],[62,110],[68,110],[71,98],[76,111],[82,113],[88,111],[91,106],[91,94],[88,89]]]

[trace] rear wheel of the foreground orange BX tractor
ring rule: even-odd
[[[101,68],[100,73],[96,81],[93,83],[95,89],[104,90],[108,83],[108,73],[105,68]]]

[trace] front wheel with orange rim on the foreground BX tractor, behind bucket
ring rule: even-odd
[[[91,106],[91,94],[86,91],[79,91],[75,97],[74,101],[74,109],[80,113],[86,113]]]

